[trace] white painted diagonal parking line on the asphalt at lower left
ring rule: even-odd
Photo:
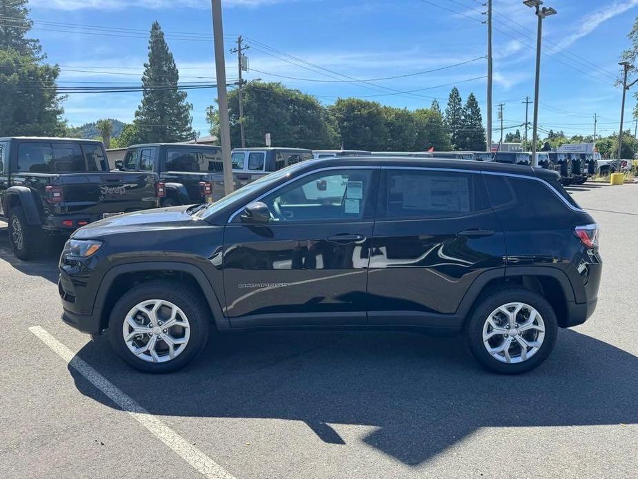
[[[197,449],[197,447],[193,447],[190,442],[179,436],[178,433],[146,411],[146,409],[137,404],[130,396],[123,393],[103,375],[95,371],[86,361],[75,355],[73,351],[55,339],[48,331],[40,326],[31,326],[29,331],[40,338],[42,342],[57,353],[60,358],[65,360],[73,369],[83,375],[84,378],[106,394],[108,398],[123,411],[129,413],[143,427],[146,427],[154,436],[175,451],[203,476],[211,479],[235,479],[234,476],[224,471],[217,462],[206,456],[206,454]]]

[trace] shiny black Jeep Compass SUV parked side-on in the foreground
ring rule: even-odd
[[[218,202],[103,219],[60,260],[62,319],[108,330],[142,371],[175,371],[217,333],[464,330],[492,371],[543,362],[594,311],[598,228],[529,166],[449,159],[301,162]]]

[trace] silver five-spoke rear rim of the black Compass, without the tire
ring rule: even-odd
[[[508,303],[488,316],[483,326],[483,344],[492,358],[506,363],[532,358],[545,339],[545,323],[529,304]]]

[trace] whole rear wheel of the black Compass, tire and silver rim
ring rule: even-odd
[[[557,335],[552,306],[526,289],[502,291],[488,297],[467,325],[472,355],[490,371],[524,373],[541,364]]]

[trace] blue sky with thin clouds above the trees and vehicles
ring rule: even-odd
[[[463,99],[475,93],[485,120],[486,61],[475,60],[486,55],[480,1],[222,0],[222,5],[226,50],[237,35],[252,47],[246,79],[281,80],[326,105],[352,96],[410,109],[430,106],[432,97],[444,108],[456,84]],[[599,133],[610,135],[620,113],[617,62],[629,45],[626,34],[638,15],[638,0],[548,0],[546,5],[558,14],[544,22],[539,125],[590,134],[597,113]],[[61,65],[65,86],[139,84],[154,20],[166,32],[182,81],[215,76],[209,0],[31,0],[30,8],[32,37],[41,40],[49,61]],[[494,124],[497,128],[496,105],[504,103],[507,128],[523,123],[521,102],[533,97],[536,18],[519,0],[494,0],[494,10]],[[228,53],[226,61],[227,77],[235,79],[237,59]],[[410,75],[461,62],[468,63],[371,84],[334,81]],[[65,116],[72,125],[103,117],[131,121],[140,97],[135,92],[70,95]],[[203,135],[204,111],[215,97],[214,89],[188,92],[193,126]],[[626,121],[632,121],[635,99],[628,99]],[[530,121],[531,113],[530,106]],[[495,129],[495,139],[498,135]]]

